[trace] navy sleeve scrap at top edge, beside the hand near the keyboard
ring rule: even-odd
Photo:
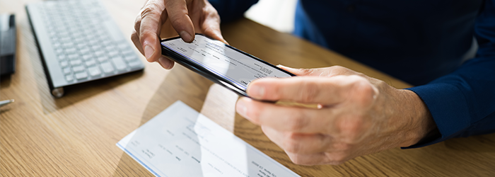
[[[209,2],[219,12],[221,21],[229,22],[242,17],[244,12],[258,0],[209,0]]]

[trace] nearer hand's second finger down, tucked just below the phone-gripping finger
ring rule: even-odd
[[[237,112],[256,125],[272,127],[279,131],[319,133],[328,132],[332,127],[334,112],[332,109],[308,109],[287,107],[240,98]]]

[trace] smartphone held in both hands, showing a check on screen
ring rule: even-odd
[[[296,76],[235,47],[198,33],[190,43],[180,37],[161,40],[161,48],[162,55],[240,96],[248,96],[246,93],[248,84],[255,79]]]

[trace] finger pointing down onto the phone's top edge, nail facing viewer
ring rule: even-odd
[[[194,40],[194,25],[187,11],[186,1],[167,1],[168,19],[180,38],[186,42]]]

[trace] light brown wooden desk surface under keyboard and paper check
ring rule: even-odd
[[[16,74],[2,78],[0,176],[153,176],[115,144],[177,100],[212,120],[301,176],[495,176],[495,134],[450,139],[419,149],[390,149],[339,166],[298,166],[264,136],[260,127],[235,114],[234,93],[176,65],[167,71],[146,63],[144,72],[94,81],[50,96],[24,5],[35,0],[0,0],[1,13],[16,13]],[[103,4],[130,36],[144,1]],[[289,34],[243,19],[223,25],[234,47],[289,67],[349,67],[397,88],[390,76]],[[131,42],[128,40],[128,42]],[[144,57],[141,57],[144,61]],[[211,89],[210,89],[211,88]]]

